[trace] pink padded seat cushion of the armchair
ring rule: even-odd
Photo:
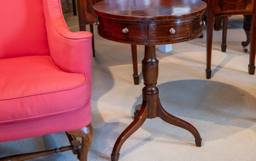
[[[50,56],[0,60],[0,124],[77,110],[88,100],[86,75],[61,71]]]

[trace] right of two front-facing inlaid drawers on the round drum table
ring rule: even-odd
[[[175,33],[170,33],[173,28]],[[150,40],[167,40],[188,37],[190,35],[190,20],[173,23],[151,23]]]

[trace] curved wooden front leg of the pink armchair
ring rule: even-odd
[[[93,127],[91,123],[82,129],[67,131],[70,135],[75,135],[75,137],[82,137],[82,146],[80,152],[80,161],[87,161],[87,155],[93,141]]]

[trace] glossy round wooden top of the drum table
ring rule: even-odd
[[[206,3],[202,0],[104,0],[93,7],[97,15],[106,18],[158,21],[203,14]]]

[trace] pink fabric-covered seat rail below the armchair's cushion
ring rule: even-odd
[[[42,119],[0,124],[0,142],[80,129],[91,122],[91,102],[77,110]],[[63,145],[64,146],[64,145]]]

